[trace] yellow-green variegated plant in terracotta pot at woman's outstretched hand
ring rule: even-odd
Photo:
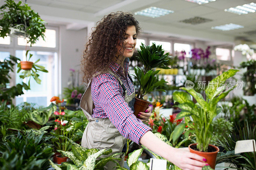
[[[182,90],[187,91],[196,99],[196,104],[186,92],[176,91],[173,93],[174,101],[179,102],[178,107],[182,109],[176,119],[185,117],[188,128],[195,130],[196,144],[189,145],[190,152],[204,156],[213,169],[219,148],[209,144],[213,136],[212,120],[221,111],[221,108],[217,107],[217,103],[235,87],[226,90],[225,81],[234,76],[237,71],[239,70],[230,69],[210,81],[205,90],[206,100],[193,88],[181,87]],[[193,121],[190,120],[189,116],[192,117]]]

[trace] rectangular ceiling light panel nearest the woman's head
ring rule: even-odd
[[[161,17],[161,16],[167,15],[169,13],[173,13],[173,12],[174,11],[172,11],[172,10],[166,10],[166,9],[151,6],[150,8],[146,8],[144,10],[137,11],[134,14],[151,17],[151,18],[157,18],[157,17]]]

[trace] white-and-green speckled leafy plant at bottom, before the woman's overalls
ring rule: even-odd
[[[121,154],[116,153],[106,158],[101,158],[100,160],[96,160],[100,155],[109,155],[112,150],[99,150],[99,149],[88,149],[84,148],[79,144],[76,144],[74,141],[69,139],[65,136],[59,136],[61,138],[67,138],[73,145],[72,145],[72,152],[65,152],[57,150],[58,152],[62,153],[63,155],[67,156],[71,161],[63,162],[60,166],[54,164],[52,161],[51,165],[56,170],[94,170],[94,169],[103,169],[103,167],[108,163],[109,161],[112,161],[116,163],[117,166],[120,166],[118,164],[118,161],[121,160],[121,158],[116,158],[115,156]]]

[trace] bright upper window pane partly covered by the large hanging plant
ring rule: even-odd
[[[45,38],[43,40],[42,37],[40,37],[35,44],[32,44],[32,47],[50,47],[55,48],[56,47],[56,31],[46,29],[45,30]],[[18,45],[28,45],[30,46],[30,43],[27,44],[27,41],[24,38],[18,38]]]

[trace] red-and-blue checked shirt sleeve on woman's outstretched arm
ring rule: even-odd
[[[140,138],[152,129],[135,117],[132,109],[124,101],[119,91],[118,81],[114,77],[109,77],[104,75],[97,76],[97,79],[100,79],[99,83],[95,86],[98,89],[98,101],[109,120],[121,135],[140,144]]]

